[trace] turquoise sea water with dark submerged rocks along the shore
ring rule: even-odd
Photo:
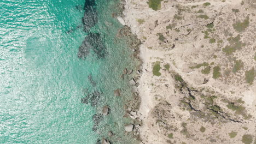
[[[131,87],[120,75],[138,62],[116,38],[117,3],[0,0],[0,143],[136,143],[124,133]]]

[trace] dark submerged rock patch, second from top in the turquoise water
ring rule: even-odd
[[[82,45],[79,47],[78,58],[86,58],[90,50],[94,51],[98,58],[104,58],[106,56],[106,47],[103,45],[99,33],[89,33],[85,37]]]

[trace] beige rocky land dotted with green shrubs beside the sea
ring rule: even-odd
[[[126,1],[118,19],[143,63],[131,80],[139,111],[125,107],[142,123],[126,131],[142,143],[256,143],[255,14],[253,0]]]

